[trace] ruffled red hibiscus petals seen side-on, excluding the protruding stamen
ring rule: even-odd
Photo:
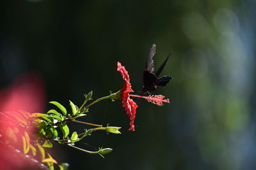
[[[134,92],[131,88],[130,78],[129,74],[126,71],[125,67],[122,66],[120,62],[117,62],[117,71],[121,73],[124,79],[124,87],[121,90],[120,96],[122,97],[122,106],[125,108],[126,114],[130,118],[130,131],[135,131],[134,129],[134,119],[136,117],[136,109],[138,108],[138,105],[132,101],[129,97],[130,92]]]

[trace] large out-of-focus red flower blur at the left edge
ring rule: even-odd
[[[0,96],[0,167],[35,169],[22,152],[22,136],[27,133],[33,138],[33,120],[26,111],[44,111],[44,83],[38,74],[23,73],[9,87],[1,89]]]

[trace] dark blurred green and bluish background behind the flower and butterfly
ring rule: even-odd
[[[102,101],[81,120],[122,127],[80,143],[113,148],[105,159],[72,148],[54,157],[70,169],[255,169],[255,1],[1,1],[0,86],[20,73],[44,79],[47,101],[83,103],[143,83],[148,50],[172,75],[159,107],[141,100],[136,131],[120,101]],[[45,111],[49,109],[49,104]],[[83,126],[73,126],[83,131]],[[87,127],[88,128],[88,127]]]

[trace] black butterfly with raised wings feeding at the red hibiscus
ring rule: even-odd
[[[148,59],[147,59],[147,66],[145,67],[143,71],[143,91],[154,91],[158,86],[165,86],[170,80],[172,80],[171,76],[163,76],[161,78],[157,78],[159,74],[163,71],[163,68],[169,59],[168,55],[166,59],[164,60],[163,64],[159,67],[156,74],[154,73],[154,60],[153,56],[156,53],[156,45],[152,45],[150,48]]]

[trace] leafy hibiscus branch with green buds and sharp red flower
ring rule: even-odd
[[[164,99],[164,96],[161,95],[138,96],[131,94],[134,91],[131,88],[129,74],[120,62],[117,62],[117,71],[120,72],[124,79],[124,87],[122,87],[118,92],[110,94],[109,96],[100,97],[88,105],[86,105],[86,103],[92,100],[92,92],[84,95],[84,102],[80,107],[70,101],[70,111],[68,111],[62,104],[56,101],[51,101],[50,103],[58,109],[51,109],[47,111],[47,113],[28,113],[26,111],[0,112],[1,149],[7,150],[8,152],[4,152],[6,154],[15,153],[16,157],[29,159],[29,163],[34,163],[42,169],[54,169],[54,167],[58,167],[62,170],[67,169],[68,167],[68,164],[65,163],[58,164],[57,160],[52,158],[47,151],[45,152],[44,148],[51,148],[53,144],[70,146],[86,153],[99,154],[104,157],[104,154],[112,151],[111,148],[99,148],[99,150],[90,151],[77,147],[77,141],[80,141],[83,138],[88,138],[95,131],[106,131],[107,133],[120,134],[121,132],[119,129],[121,127],[112,127],[109,125],[104,127],[100,124],[92,124],[77,120],[78,118],[86,116],[89,112],[90,106],[104,99],[121,99],[122,106],[125,108],[126,114],[129,116],[129,130],[135,131],[134,119],[136,117],[136,109],[138,108],[138,105],[131,99],[131,97],[140,97],[159,106],[162,106],[163,103],[170,103],[168,99]],[[12,108],[12,106],[9,108]],[[71,132],[68,127],[68,124],[71,122],[93,126],[93,128],[84,129],[84,132]],[[58,131],[58,129],[60,129],[60,131]],[[60,132],[62,133],[60,134]],[[3,157],[2,155],[0,158],[1,160],[6,161],[10,160],[9,157],[10,155],[8,157]],[[4,164],[1,160],[0,166]],[[20,162],[18,160],[20,159],[15,160],[15,162]],[[16,169],[19,169],[19,167]],[[20,169],[24,169],[24,166],[21,166]]]

